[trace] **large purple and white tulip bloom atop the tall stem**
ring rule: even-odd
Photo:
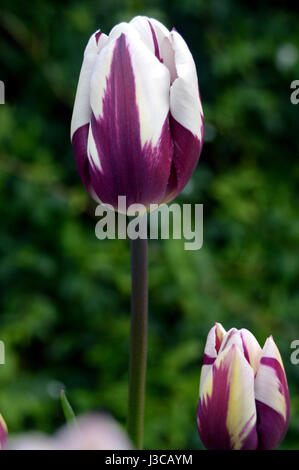
[[[117,208],[168,202],[200,156],[203,111],[184,39],[137,16],[85,49],[71,124],[81,180],[97,202]]]

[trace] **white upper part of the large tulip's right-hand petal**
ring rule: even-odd
[[[203,110],[199,96],[195,63],[184,39],[171,32],[178,78],[170,89],[170,112],[174,119],[202,139]]]

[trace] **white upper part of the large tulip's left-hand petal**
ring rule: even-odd
[[[71,138],[79,127],[90,121],[90,78],[97,55],[106,41],[106,34],[100,34],[100,31],[96,31],[87,43],[76,92],[71,123]]]

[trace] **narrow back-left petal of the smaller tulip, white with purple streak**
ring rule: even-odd
[[[203,365],[201,368],[200,390],[202,389],[203,383],[217,358],[225,333],[226,331],[221,323],[215,323],[213,328],[209,331],[204,350]]]

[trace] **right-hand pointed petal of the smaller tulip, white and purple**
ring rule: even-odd
[[[280,353],[267,339],[255,379],[260,449],[275,449],[284,437],[290,415],[290,397]]]

